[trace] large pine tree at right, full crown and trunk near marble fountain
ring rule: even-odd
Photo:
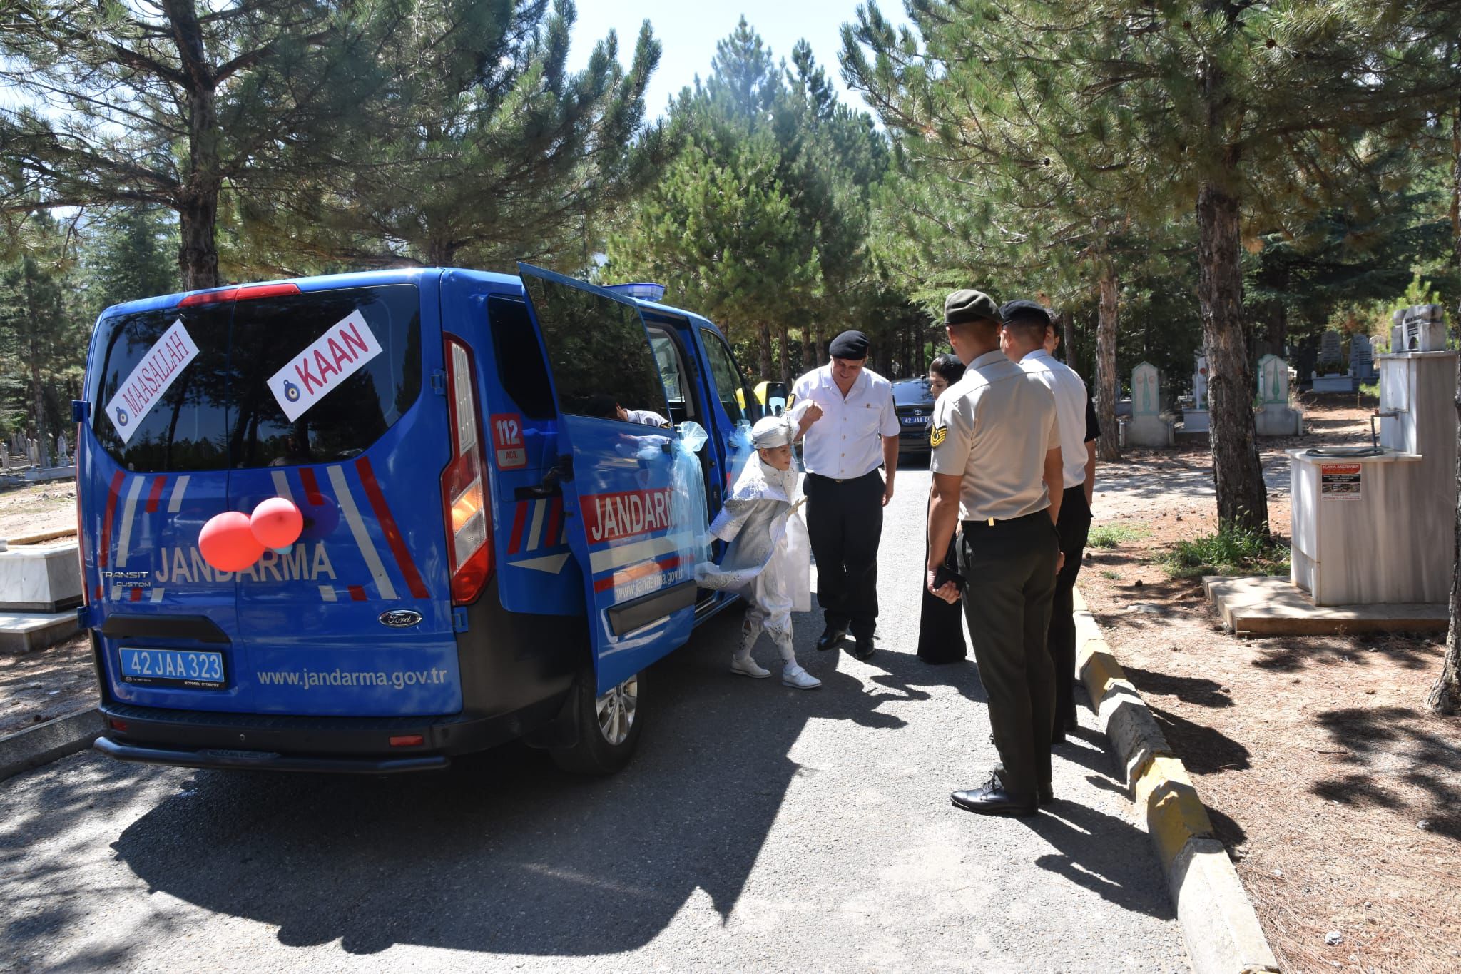
[[[1363,171],[1370,131],[1404,137],[1449,104],[1455,70],[1438,70],[1435,50],[1455,35],[1457,4],[920,0],[913,13],[925,35],[961,32],[972,48],[923,70],[928,51],[878,29],[872,4],[844,48],[871,44],[871,76],[926,79],[920,137],[983,137],[960,95],[1012,102],[1026,158],[1058,155],[1140,226],[1195,215],[1218,518],[1267,532],[1240,244],[1363,188],[1341,177]]]

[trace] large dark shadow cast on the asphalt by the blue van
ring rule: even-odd
[[[114,848],[155,891],[275,924],[286,945],[339,939],[352,954],[400,942],[618,954],[665,930],[697,888],[725,920],[787,787],[815,774],[787,756],[806,721],[899,729],[878,707],[919,694],[900,654],[874,657],[893,670],[877,680],[890,692],[834,670],[836,653],[811,648],[809,616],[799,659],[820,691],[732,676],[738,615],[649,672],[657,705],[634,762],[611,778],[565,775],[524,748],[435,775],[199,771]]]

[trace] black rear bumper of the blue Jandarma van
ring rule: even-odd
[[[181,768],[396,774],[446,768],[454,755],[494,748],[549,723],[562,697],[492,717],[276,717],[131,704],[101,705],[94,745],[120,761]],[[392,746],[419,735],[422,743]]]

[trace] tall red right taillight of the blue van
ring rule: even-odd
[[[441,473],[441,504],[451,559],[451,602],[465,605],[476,600],[492,572],[491,511],[472,352],[460,339],[447,336],[446,359],[451,461]]]

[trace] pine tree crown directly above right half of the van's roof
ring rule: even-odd
[[[333,140],[332,168],[244,202],[247,260],[586,269],[600,212],[657,161],[641,152],[636,169],[628,149],[641,134],[653,149],[660,45],[646,22],[627,70],[609,34],[571,73],[574,19],[570,0],[399,0],[365,23],[384,82]]]

